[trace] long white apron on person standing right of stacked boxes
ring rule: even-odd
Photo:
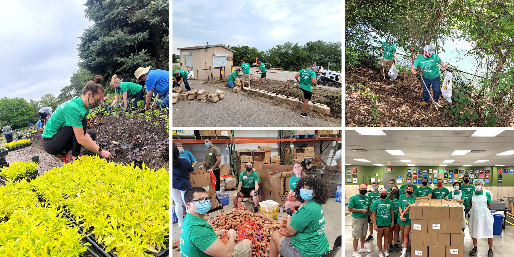
[[[469,236],[477,239],[492,237],[494,218],[487,207],[486,193],[484,191],[483,195],[476,195],[476,191],[473,191],[472,194],[472,208],[469,211]]]

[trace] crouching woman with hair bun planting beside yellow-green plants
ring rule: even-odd
[[[86,83],[82,96],[59,105],[43,131],[43,149],[61,165],[77,159],[82,146],[106,159],[116,156],[99,148],[95,143],[95,133],[87,131],[86,116],[89,109],[100,105],[104,93],[103,77],[97,75],[94,80]]]

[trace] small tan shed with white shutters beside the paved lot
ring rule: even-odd
[[[191,46],[177,48],[180,50],[180,69],[192,70],[193,77],[190,79],[207,79],[212,77],[219,79],[220,70],[211,69],[200,70],[207,68],[223,67],[225,65],[224,78],[230,75],[230,68],[234,60],[234,50],[224,45],[207,45],[207,46]],[[206,65],[207,63],[207,65]]]

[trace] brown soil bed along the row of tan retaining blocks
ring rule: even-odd
[[[216,85],[221,88],[221,90],[230,90],[231,88],[227,87],[226,81],[219,81],[219,80],[203,80],[203,83],[210,84],[210,85]],[[284,95],[288,97],[296,97],[300,100],[303,98],[303,91],[300,89],[300,87],[289,84],[287,82],[282,81],[276,81],[276,80],[269,80],[266,84],[261,84],[261,80],[258,82],[252,81],[250,83],[251,88],[258,88],[259,90],[266,90],[268,92],[276,93],[277,95]],[[201,89],[201,88],[200,88]],[[273,100],[267,100],[266,98],[260,97],[258,95],[250,95],[247,93],[244,93],[243,90],[240,91],[239,94],[246,94],[248,97],[252,97],[255,99],[260,99],[265,102],[283,106],[285,108],[294,109],[295,111],[298,111],[299,107],[291,106],[287,103],[280,103]],[[311,98],[311,102],[317,102],[321,104],[326,104],[328,107],[330,107],[330,115],[324,115],[320,114],[318,112],[310,111],[309,116],[315,116],[320,119],[329,120],[333,122],[341,122],[341,88],[327,88],[327,87],[317,87],[313,86],[313,97]]]

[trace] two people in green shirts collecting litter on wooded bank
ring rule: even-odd
[[[391,39],[387,39],[386,42],[381,44],[380,57],[382,58],[380,61],[379,69],[383,77],[384,72],[396,63],[396,46],[391,43]],[[421,87],[423,87],[423,101],[419,103],[421,106],[425,106],[429,103],[430,93],[428,90],[430,87],[432,87],[434,102],[439,104],[438,101],[441,77],[439,75],[439,67],[437,67],[437,64],[453,74],[453,71],[448,68],[446,63],[443,62],[439,56],[437,56],[432,46],[426,45],[423,47],[423,54],[416,58],[410,69],[412,74],[416,76],[416,79],[423,80],[421,85]],[[386,65],[389,66],[387,69]],[[423,76],[416,71],[417,67],[421,68],[421,71],[423,71]]]

